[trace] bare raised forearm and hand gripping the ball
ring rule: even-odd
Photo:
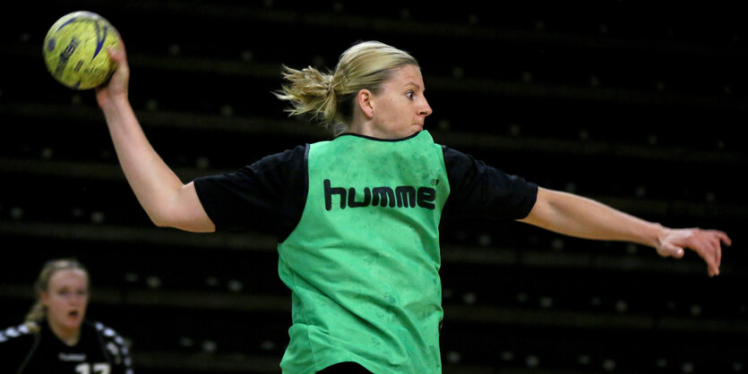
[[[182,183],[159,157],[135,117],[128,98],[130,68],[120,42],[122,50],[109,51],[116,72],[106,85],[96,89],[96,98],[127,182],[155,225],[213,232],[215,225],[202,208],[193,183]]]

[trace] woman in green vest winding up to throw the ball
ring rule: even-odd
[[[192,232],[252,228],[278,237],[291,290],[284,372],[441,372],[442,214],[519,220],[556,233],[636,242],[661,256],[696,251],[719,273],[713,230],[671,229],[504,174],[424,130],[432,113],[408,53],[363,42],[334,72],[285,69],[277,94],[293,115],[334,126],[331,141],[182,183],[146,139],[127,97],[125,51],[97,89],[128,182],[155,225]]]

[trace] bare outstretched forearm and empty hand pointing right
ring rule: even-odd
[[[672,229],[598,201],[543,188],[538,188],[535,206],[520,222],[584,239],[636,242],[657,249],[663,257],[680,259],[684,250],[690,249],[706,261],[709,276],[719,275],[721,244],[731,244],[727,234],[721,231]]]

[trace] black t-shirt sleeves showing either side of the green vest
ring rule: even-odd
[[[520,219],[529,215],[537,199],[537,184],[458,150],[442,149],[450,183],[444,217]],[[297,146],[233,173],[195,179],[195,190],[216,230],[259,231],[285,241],[304,212],[308,151],[308,144]]]

